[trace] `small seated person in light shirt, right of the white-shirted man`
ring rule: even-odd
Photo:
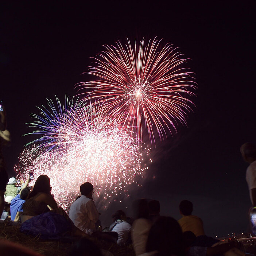
[[[117,244],[124,245],[128,241],[132,226],[126,221],[127,217],[122,210],[117,210],[112,218],[114,223],[110,226],[110,231],[118,234]]]

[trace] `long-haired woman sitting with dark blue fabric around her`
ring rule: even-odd
[[[44,239],[58,239],[61,236],[89,238],[87,234],[75,227],[66,212],[57,206],[51,194],[50,179],[47,175],[40,175],[36,179],[32,192],[23,204],[22,216],[27,216],[28,220],[23,222],[20,231],[27,234],[31,234],[32,231],[33,234],[38,232]],[[49,228],[43,226],[45,224],[49,225]]]

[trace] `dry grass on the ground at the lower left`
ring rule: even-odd
[[[23,234],[19,230],[20,226],[11,226],[8,221],[0,223],[0,239],[5,239],[14,243],[21,244],[45,256],[66,256],[69,255],[70,249],[75,241],[52,241],[40,240],[39,236],[32,237]],[[96,240],[98,247],[105,249],[114,256],[134,256],[135,253],[131,246],[120,247],[117,244],[109,243],[102,240]]]

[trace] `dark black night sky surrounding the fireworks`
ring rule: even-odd
[[[55,95],[75,95],[74,85],[90,79],[81,73],[102,44],[158,36],[191,59],[197,108],[187,128],[178,127],[152,150],[148,177],[131,197],[159,199],[161,213],[177,219],[179,201],[189,199],[206,234],[245,232],[250,200],[239,148],[256,142],[255,2],[38,2],[8,1],[0,11],[0,97],[12,134],[5,148],[9,176],[31,140],[22,135],[35,106]]]

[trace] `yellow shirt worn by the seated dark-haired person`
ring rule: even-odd
[[[178,220],[178,222],[181,226],[182,232],[191,231],[195,236],[202,236],[205,234],[205,231],[203,230],[203,221],[197,216],[183,216]]]

